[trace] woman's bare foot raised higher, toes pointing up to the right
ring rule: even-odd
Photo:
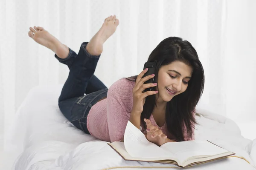
[[[100,55],[103,51],[103,43],[116,31],[119,20],[116,15],[107,17],[99,31],[92,37],[86,46],[86,50],[91,55]]]

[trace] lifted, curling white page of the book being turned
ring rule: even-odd
[[[125,129],[124,136],[125,150],[132,157],[137,158],[159,158],[172,157],[172,153],[166,152],[156,144],[147,140],[145,135],[130,121]]]

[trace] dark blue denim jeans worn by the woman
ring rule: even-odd
[[[90,134],[87,115],[94,104],[107,96],[108,88],[93,75],[100,55],[90,55],[85,49],[86,45],[87,42],[81,44],[78,54],[69,49],[67,58],[59,58],[56,54],[55,58],[70,69],[58,98],[58,106],[74,126]]]

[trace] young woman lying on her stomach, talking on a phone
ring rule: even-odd
[[[118,25],[115,15],[107,17],[90,42],[81,44],[78,54],[44,28],[30,27],[29,37],[55,52],[55,58],[70,69],[58,99],[61,112],[77,128],[103,141],[123,141],[128,121],[158,146],[194,140],[195,106],[204,89],[197,52],[188,41],[168,37],[148,58],[157,62],[156,75],[143,78],[145,69],[108,89],[93,74],[103,43]],[[153,77],[157,84],[144,84]],[[149,87],[154,90],[144,92]]]

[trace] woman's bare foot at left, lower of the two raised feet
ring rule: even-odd
[[[29,28],[29,37],[31,37],[35,42],[46,46],[48,49],[51,49],[58,55],[59,58],[67,58],[69,53],[69,48],[62,44],[57,38],[51,35],[48,31],[46,31],[42,27],[34,26]]]

